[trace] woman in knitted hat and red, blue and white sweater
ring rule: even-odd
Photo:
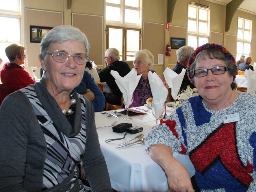
[[[172,191],[256,191],[256,97],[234,90],[235,63],[221,45],[198,47],[188,77],[199,96],[147,135],[146,151],[165,170]],[[189,155],[191,179],[173,151]]]

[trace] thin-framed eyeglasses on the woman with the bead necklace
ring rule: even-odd
[[[46,53],[48,54],[48,53]],[[84,65],[88,59],[88,56],[86,56],[85,54],[74,54],[74,55],[69,55],[67,52],[65,51],[54,51],[48,55],[52,55],[52,59],[58,63],[64,63],[67,60],[69,60],[69,57],[73,57],[74,61],[76,62],[76,64],[78,65]]]

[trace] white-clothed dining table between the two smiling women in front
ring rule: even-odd
[[[166,108],[167,115],[175,110],[174,107]],[[120,112],[122,110],[116,111]],[[141,106],[135,110],[145,114],[132,116],[131,120],[126,121],[122,119],[125,117],[124,114],[120,114],[119,118],[116,118],[100,112],[95,113],[96,127],[99,127],[96,130],[100,148],[108,167],[111,186],[113,189],[121,192],[165,192],[169,189],[165,172],[145,152],[145,145],[137,142],[127,148],[116,148],[117,145],[131,140],[139,134],[143,134],[146,137],[147,133],[152,130],[152,127],[156,126],[156,118],[150,108]],[[116,115],[113,111],[107,111],[107,113]],[[125,138],[121,140],[106,142],[108,139],[124,137],[124,133],[115,133],[110,126],[100,127],[110,125],[115,121],[117,121],[116,124],[130,123],[132,126],[143,127],[143,131],[136,134],[127,133]],[[190,177],[195,174],[195,168],[187,155],[174,152],[173,156],[186,167]]]

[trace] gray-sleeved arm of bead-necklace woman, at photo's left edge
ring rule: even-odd
[[[24,177],[28,146],[27,113],[20,106],[24,102],[12,97],[0,107],[0,191],[26,191]]]

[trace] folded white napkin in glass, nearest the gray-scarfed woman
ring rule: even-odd
[[[121,77],[117,71],[113,70],[110,71],[110,74],[115,78],[115,82],[122,92],[124,104],[130,106],[130,104],[132,104],[134,90],[137,87],[142,74],[137,76],[137,72],[134,68],[132,68],[132,70],[124,77]]]

